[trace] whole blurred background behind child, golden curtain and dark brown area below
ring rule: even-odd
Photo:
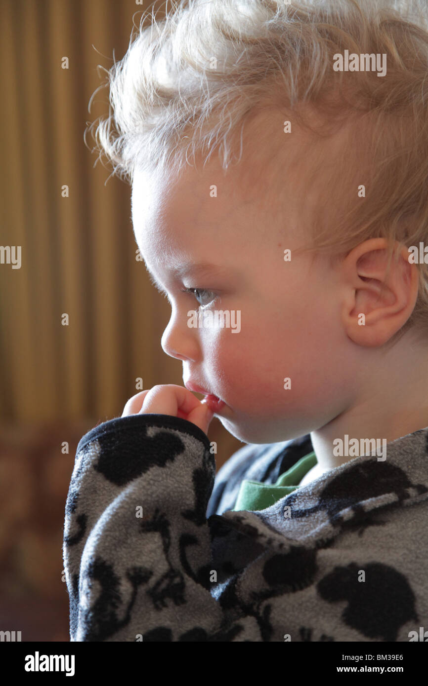
[[[152,5],[0,0],[0,630],[22,641],[69,641],[63,526],[78,441],[122,414],[138,377],[183,385],[160,344],[170,307],[135,261],[131,187],[94,167],[84,142],[109,111],[102,88],[88,112],[97,67],[124,56]],[[243,446],[216,418],[208,438],[217,468]]]

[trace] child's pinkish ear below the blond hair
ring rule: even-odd
[[[361,346],[386,343],[411,316],[418,298],[419,273],[409,263],[409,251],[396,243],[398,253],[387,270],[387,241],[373,238],[359,244],[343,260],[345,297],[343,327]]]

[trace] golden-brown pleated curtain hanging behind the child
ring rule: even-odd
[[[122,414],[138,377],[183,383],[160,345],[170,307],[135,260],[131,187],[84,142],[109,111],[108,88],[88,111],[98,64],[124,56],[148,5],[1,2],[2,425],[98,423]],[[220,429],[229,454],[242,445]]]

